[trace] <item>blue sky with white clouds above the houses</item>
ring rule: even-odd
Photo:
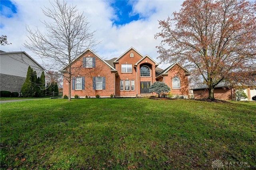
[[[68,0],[84,12],[90,23],[90,30],[100,44],[96,53],[103,59],[119,57],[130,47],[142,55],[149,55],[160,62],[156,46],[160,45],[154,35],[161,30],[158,20],[172,17],[181,9],[183,0]],[[42,13],[51,7],[48,0],[0,0],[0,34],[8,38],[10,45],[0,46],[2,51],[25,51],[38,63],[42,61],[23,45],[28,41],[26,25],[44,32],[40,21],[48,18]],[[165,69],[167,64],[158,67]]]

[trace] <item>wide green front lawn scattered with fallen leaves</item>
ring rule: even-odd
[[[216,159],[225,169],[256,168],[255,103],[49,99],[0,107],[1,168],[212,169]]]

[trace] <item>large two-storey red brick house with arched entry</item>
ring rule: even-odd
[[[188,96],[188,71],[178,63],[165,70],[148,55],[143,56],[130,47],[122,55],[110,60],[101,59],[90,49],[72,63],[71,97],[137,97],[153,95],[149,87],[163,81],[171,88],[172,95]],[[62,72],[66,77],[67,68]],[[63,79],[63,95],[68,95],[68,81]]]

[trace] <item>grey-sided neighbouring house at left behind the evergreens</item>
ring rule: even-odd
[[[20,92],[25,82],[28,66],[39,77],[44,68],[24,51],[0,51],[0,90]]]

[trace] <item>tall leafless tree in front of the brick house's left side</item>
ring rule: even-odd
[[[67,2],[59,0],[50,2],[52,8],[42,10],[52,22],[42,22],[46,32],[26,26],[30,42],[24,47],[33,51],[44,61],[46,70],[62,70],[66,68],[64,79],[68,85],[68,101],[71,101],[71,77],[75,71],[71,69],[72,62],[83,53],[84,49],[95,49],[95,31],[90,31],[89,22],[83,13],[78,12],[76,6],[68,6]]]

